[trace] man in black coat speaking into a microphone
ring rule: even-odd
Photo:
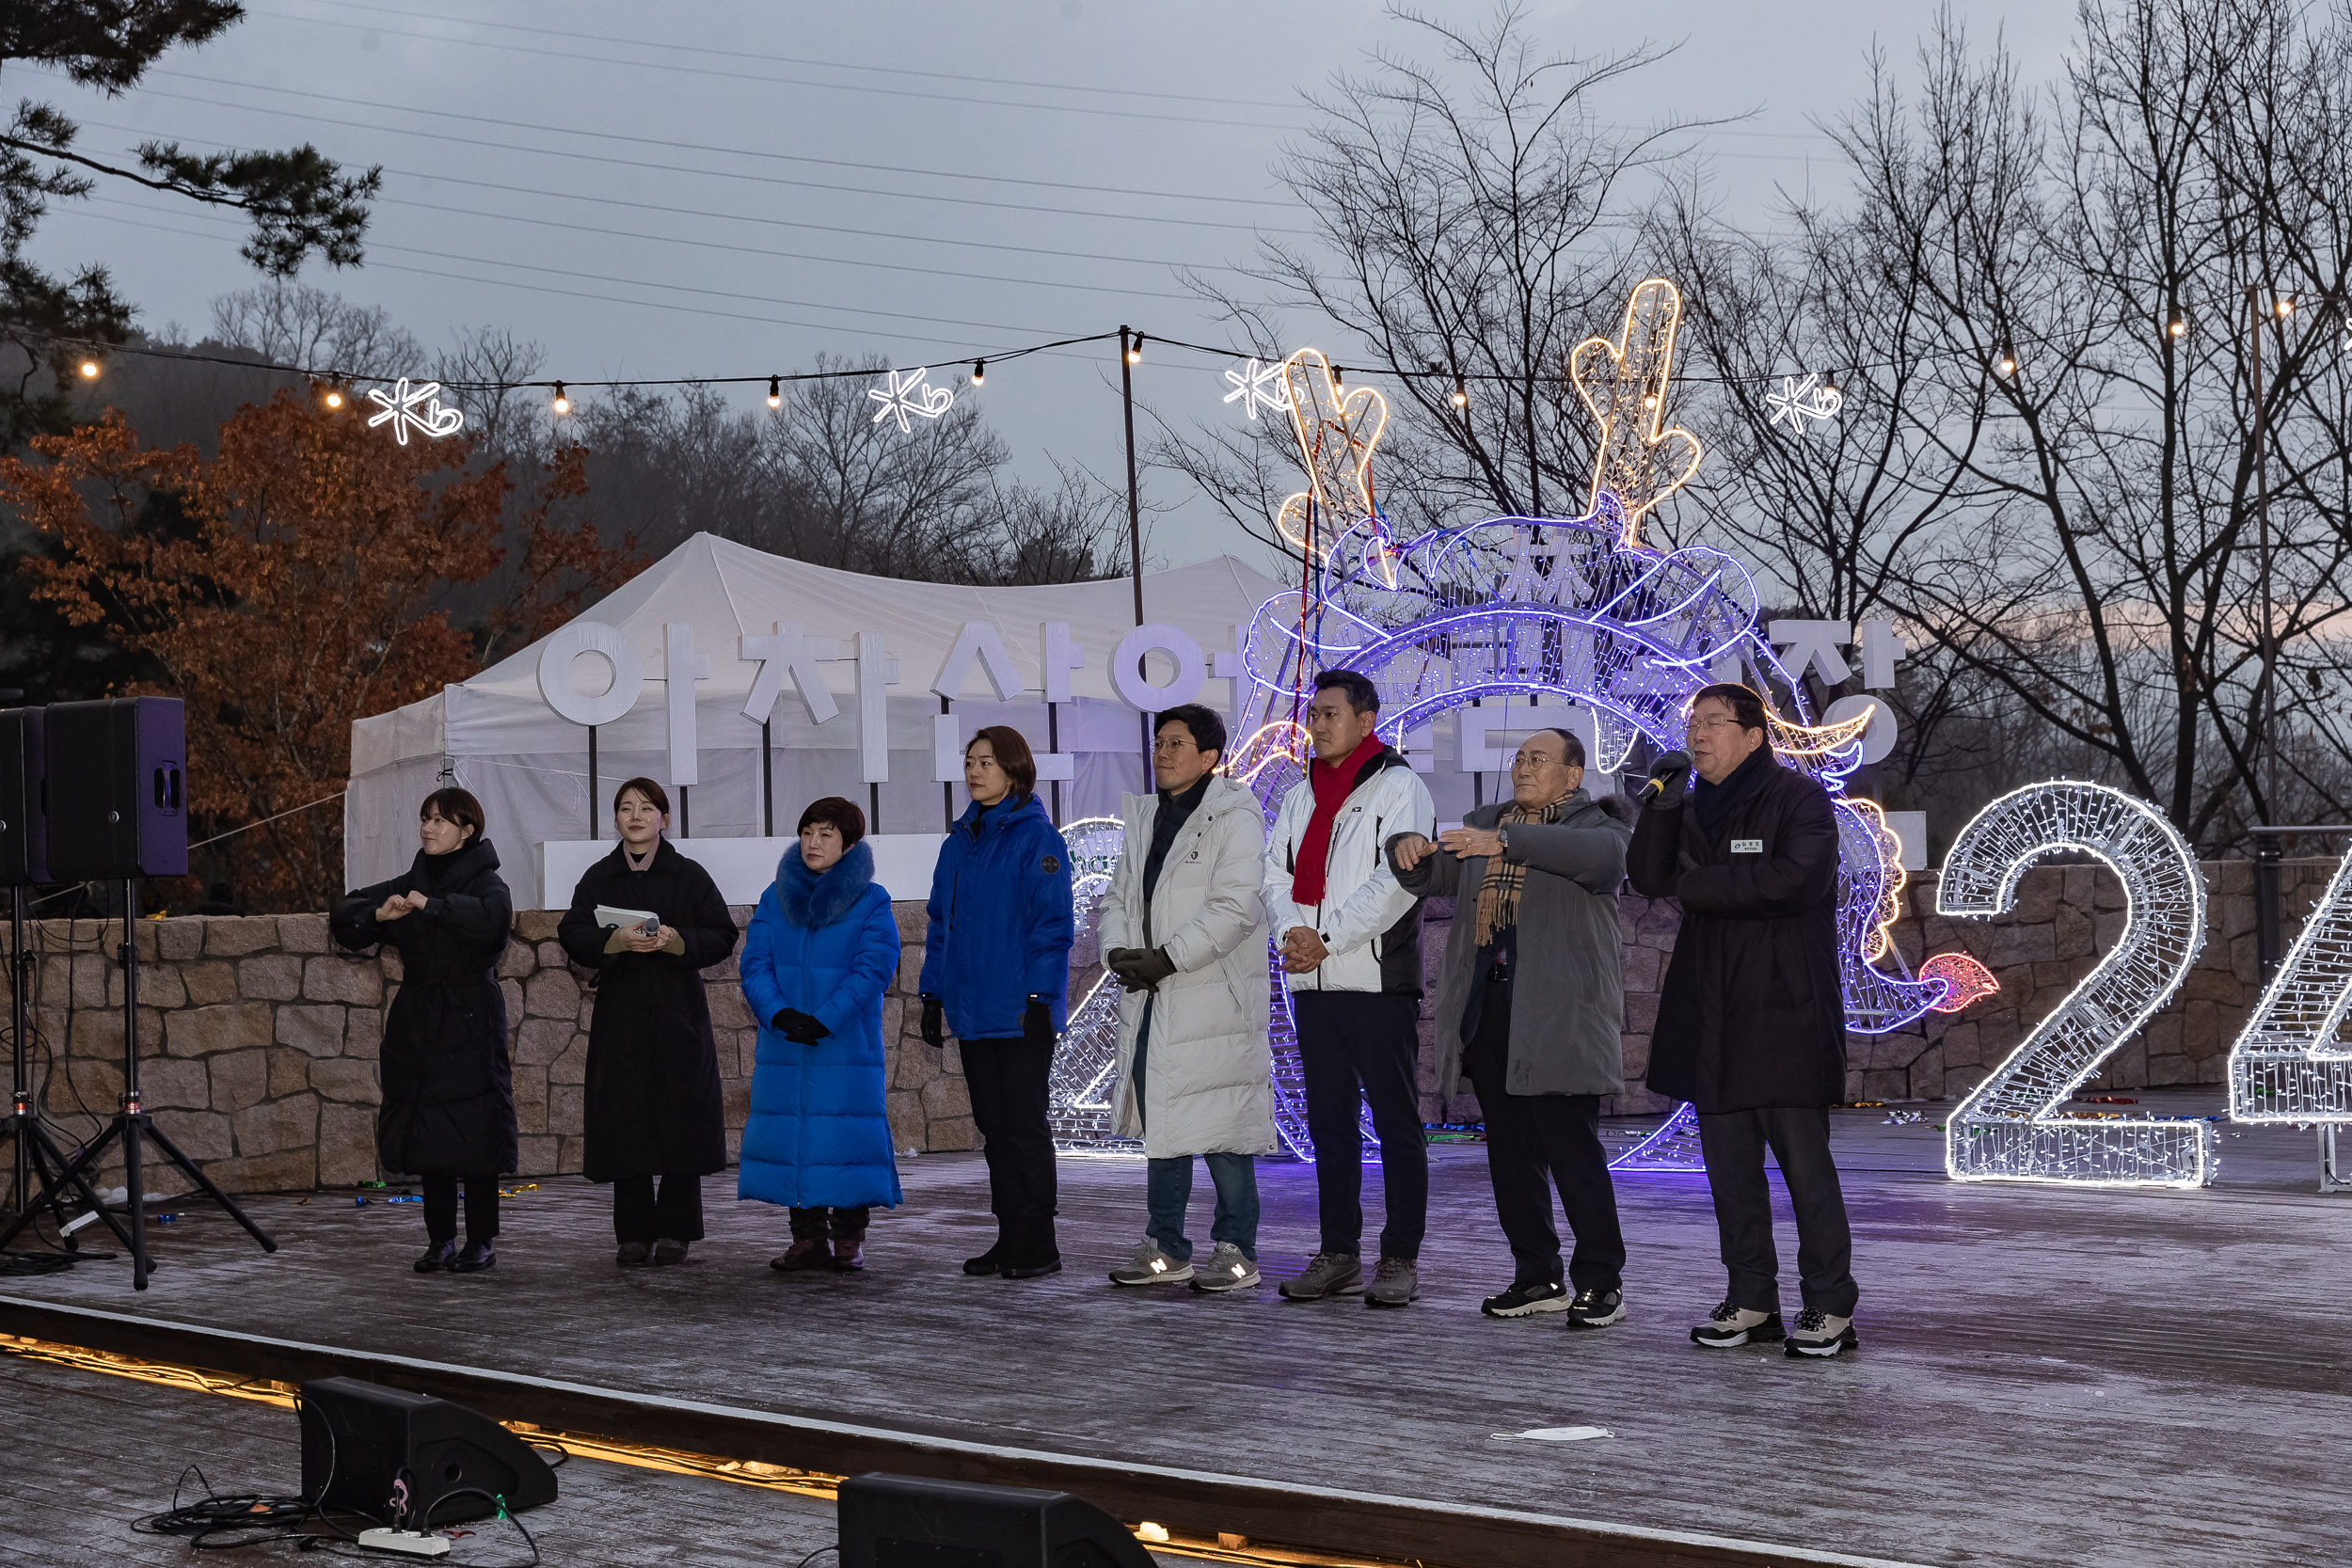
[[[1698,1345],[1788,1340],[1835,1356],[1853,1338],[1853,1234],[1830,1161],[1830,1105],[1846,1098],[1846,1004],[1837,973],[1837,806],[1773,762],[1764,701],[1705,686],[1691,701],[1698,780],[1665,762],[1644,790],[1625,872],[1635,891],[1682,903],[1658,997],[1649,1086],[1689,1100],[1715,1192],[1726,1300]],[[1804,1314],[1780,1324],[1771,1241],[1771,1145],[1797,1211]]]

